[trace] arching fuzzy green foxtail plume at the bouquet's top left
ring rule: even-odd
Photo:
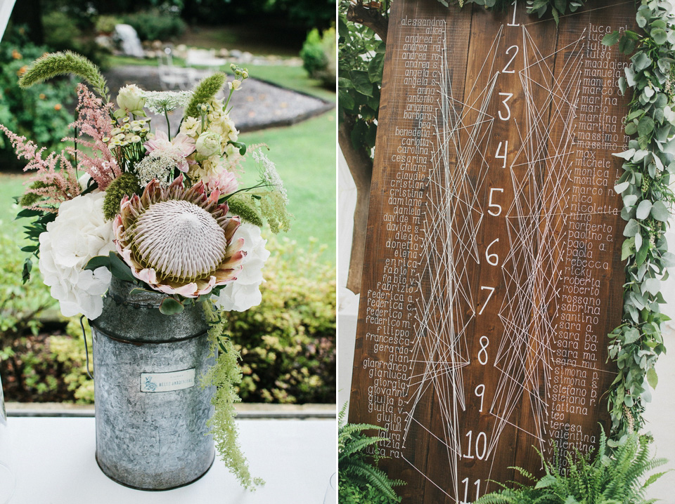
[[[101,70],[84,56],[70,51],[46,54],[35,60],[19,79],[19,86],[30,88],[33,84],[65,74],[75,74],[81,77],[105,102],[110,101],[108,84]]]

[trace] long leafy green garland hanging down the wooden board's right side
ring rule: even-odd
[[[643,425],[644,404],[650,402],[650,389],[658,379],[654,365],[665,352],[662,324],[669,317],[660,312],[664,303],[660,281],[666,268],[675,265],[675,254],[667,251],[664,236],[675,196],[669,189],[675,173],[674,70],[675,31],[667,1],[646,1],[636,13],[644,31],[605,35],[603,44],[619,43],[619,50],[631,56],[619,79],[625,93],[633,90],[629,114],[624,121],[626,135],[634,135],[628,150],[615,154],[625,160],[624,173],[615,191],[624,201],[622,260],[626,260],[624,315],[622,324],[609,335],[609,354],[619,374],[609,390],[608,409],[614,437],[639,430]]]

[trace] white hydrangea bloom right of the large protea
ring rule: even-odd
[[[238,238],[244,239],[242,250],[246,251],[246,257],[242,263],[243,268],[237,279],[226,284],[219,295],[213,298],[217,307],[228,312],[245,312],[260,304],[260,284],[264,281],[262,267],[269,258],[269,251],[265,248],[267,240],[262,239],[260,228],[256,225],[242,223],[234,233],[233,239]]]

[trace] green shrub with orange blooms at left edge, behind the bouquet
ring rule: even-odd
[[[46,52],[46,47],[35,46],[20,32],[6,34],[0,43],[0,124],[51,152],[62,148],[60,140],[71,133],[68,124],[75,118],[68,105],[75,100],[75,82],[60,78],[30,89],[18,85],[18,77],[27,65]],[[0,134],[0,166],[23,167],[3,134]]]

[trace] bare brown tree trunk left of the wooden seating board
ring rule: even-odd
[[[354,117],[347,115],[338,129],[338,143],[356,185],[356,208],[354,209],[354,231],[352,232],[352,253],[349,259],[347,289],[358,294],[361,292],[361,275],[364,270],[364,248],[366,244],[366,224],[368,223],[368,201],[371,196],[373,160],[365,149],[357,150],[352,145],[352,128],[354,128]]]

